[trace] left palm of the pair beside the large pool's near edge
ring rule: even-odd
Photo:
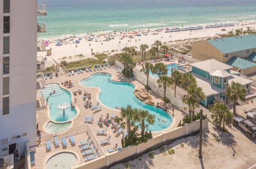
[[[127,136],[130,136],[131,128],[135,125],[135,122],[138,121],[138,116],[136,108],[132,108],[131,105],[127,105],[126,108],[121,108],[121,117],[117,118],[116,121],[120,123],[122,128],[127,129]]]

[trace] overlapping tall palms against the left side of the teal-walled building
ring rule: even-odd
[[[205,96],[202,88],[197,86],[196,79],[192,74],[183,74],[182,83],[183,88],[188,92],[187,95],[183,96],[182,102],[188,105],[189,117],[192,115],[193,118],[195,114],[195,108],[199,107],[200,100],[204,99]]]

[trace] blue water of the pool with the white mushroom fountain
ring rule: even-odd
[[[50,92],[56,91],[55,94],[50,95]],[[61,103],[71,104],[71,94],[68,90],[60,87],[58,83],[50,83],[43,89],[45,99],[49,97],[48,105],[50,106],[51,119],[57,122],[65,122],[73,119],[77,112],[75,108],[71,106],[65,109],[65,116],[63,116],[63,110],[59,109],[58,106]]]

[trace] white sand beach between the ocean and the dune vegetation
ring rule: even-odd
[[[204,27],[206,24],[202,24],[201,26]],[[188,27],[188,26],[184,26]],[[55,45],[54,39],[44,39],[44,40],[50,40],[50,43],[46,49],[52,49],[52,55],[51,57],[56,60],[57,62],[60,62],[63,60],[63,57],[67,62],[70,61],[76,61],[81,60],[85,58],[92,58],[94,57],[91,53],[106,53],[106,54],[114,54],[114,53],[120,53],[122,48],[124,47],[137,47],[137,50],[140,50],[141,44],[147,44],[150,48],[151,45],[154,44],[154,41],[160,40],[162,43],[166,43],[169,41],[174,40],[183,40],[183,39],[189,39],[189,38],[201,38],[201,37],[214,37],[218,36],[220,34],[228,33],[228,31],[233,30],[233,33],[235,34],[236,29],[243,29],[243,31],[247,30],[247,27],[250,27],[250,29],[255,29],[256,27],[256,21],[244,21],[244,22],[237,22],[235,23],[235,26],[231,27],[219,27],[219,28],[209,28],[209,29],[199,29],[199,30],[192,30],[192,31],[178,31],[178,32],[164,32],[157,31],[156,29],[150,29],[148,30],[138,30],[138,32],[141,34],[141,36],[135,36],[132,34],[128,34],[125,31],[122,32],[114,32],[112,31],[110,33],[110,36],[113,36],[114,39],[111,39],[109,41],[105,41],[106,38],[101,35],[98,36],[98,41],[95,41],[95,38],[97,38],[97,35],[101,33],[94,33],[94,39],[92,41],[89,41],[85,37],[89,37],[89,35],[75,35],[75,37],[82,37],[82,40],[80,40],[79,44],[75,44],[75,40],[78,38],[73,38],[73,40],[66,40],[66,43],[63,43],[61,46]],[[162,29],[162,28],[161,28]],[[124,35],[124,32],[126,35]],[[144,33],[143,33],[144,32]],[[147,32],[147,33],[146,33]],[[144,35],[143,35],[144,34]],[[147,35],[145,35],[147,34]],[[155,35],[153,35],[155,34]],[[133,38],[129,38],[129,36],[132,35]],[[59,39],[64,39],[65,37],[59,37]],[[91,50],[92,49],[92,50]],[[92,52],[91,52],[92,51]],[[114,52],[115,51],[115,52]],[[82,54],[84,57],[75,57],[75,55]],[[37,56],[45,56],[46,52],[38,52]],[[73,56],[68,58],[69,56]],[[52,65],[51,60],[47,60],[46,66]]]

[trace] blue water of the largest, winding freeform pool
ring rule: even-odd
[[[154,114],[155,123],[148,125],[148,130],[161,131],[169,127],[172,123],[172,117],[164,112],[163,109],[143,103],[135,97],[133,94],[135,87],[131,83],[112,81],[110,74],[93,74],[89,78],[83,79],[81,85],[86,87],[99,87],[101,89],[99,96],[100,102],[110,108],[115,109],[115,106],[126,107],[130,104],[133,108],[146,109],[149,113]],[[109,114],[111,114],[111,112],[109,112]],[[166,122],[159,122],[158,119]]]

